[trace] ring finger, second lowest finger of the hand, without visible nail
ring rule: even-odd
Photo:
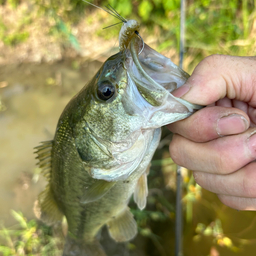
[[[201,187],[221,195],[256,198],[256,162],[249,163],[240,170],[218,175],[194,172],[194,178]]]

